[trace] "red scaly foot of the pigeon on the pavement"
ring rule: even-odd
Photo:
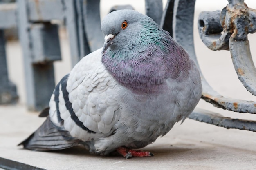
[[[150,152],[143,152],[141,150],[132,150],[132,149],[126,148],[124,146],[117,148],[117,152],[119,154],[123,155],[123,157],[125,157],[126,159],[128,159],[130,157],[151,157],[151,156],[154,156]]]

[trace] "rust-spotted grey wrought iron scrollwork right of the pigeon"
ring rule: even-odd
[[[248,33],[256,31],[256,13],[244,0],[228,0],[222,11],[202,12],[198,19],[200,38],[212,50],[230,50],[238,78],[245,88],[256,95],[256,69],[249,50]],[[161,26],[171,33],[198,65],[193,44],[195,0],[169,0]],[[170,24],[170,22],[172,24]],[[199,68],[199,65],[198,65]],[[202,99],[213,106],[240,113],[256,113],[256,102],[224,97],[207,83],[202,72]],[[256,131],[256,121],[232,119],[207,110],[195,110],[191,119],[225,128]]]

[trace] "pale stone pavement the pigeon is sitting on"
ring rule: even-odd
[[[256,134],[186,119],[143,150],[154,157],[90,155],[80,147],[53,152],[24,150],[17,144],[45,118],[24,106],[0,106],[0,157],[49,170],[254,170]]]

